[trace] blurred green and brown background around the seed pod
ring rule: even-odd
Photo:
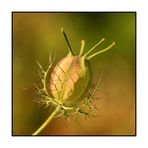
[[[91,60],[93,82],[104,75],[96,101],[98,118],[77,117],[71,127],[65,118],[54,119],[41,135],[135,135],[135,13],[13,13],[13,135],[31,135],[48,117],[49,109],[33,102],[39,81],[39,60],[55,63],[68,53],[60,31],[67,33],[73,50],[86,41],[85,52],[102,38],[95,51],[116,45]],[[93,52],[95,52],[93,51]],[[54,63],[54,64],[55,64]],[[75,121],[76,120],[76,121]]]

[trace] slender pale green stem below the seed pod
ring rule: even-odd
[[[47,118],[47,120],[32,134],[32,136],[38,135],[46,126],[49,124],[49,122],[54,118],[54,116],[57,114],[57,112],[60,110],[61,106],[57,106],[57,108],[52,112],[52,114]]]

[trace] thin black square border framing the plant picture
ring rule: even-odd
[[[135,14],[135,134],[134,135],[37,135],[37,137],[135,137],[137,136],[137,12],[136,11],[12,11],[11,12],[11,136],[36,137],[32,135],[13,135],[13,14],[14,13],[134,13]]]

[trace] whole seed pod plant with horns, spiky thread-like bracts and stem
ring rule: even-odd
[[[55,110],[48,117],[48,119],[41,125],[41,127],[37,129],[36,132],[34,132],[33,135],[39,134],[41,130],[43,130],[43,128],[47,126],[47,124],[55,116],[63,114],[69,116],[70,114],[77,112],[87,114],[83,110],[81,110],[81,107],[89,105],[100,83],[99,79],[93,93],[89,97],[87,97],[87,103],[81,104],[91,80],[91,69],[89,60],[103,52],[106,52],[115,45],[115,42],[113,42],[105,49],[89,55],[105,39],[101,39],[85,54],[83,54],[85,41],[82,40],[80,52],[78,55],[75,55],[74,51],[70,46],[66,33],[64,32],[64,29],[62,28],[61,31],[68,45],[68,54],[66,57],[62,58],[51,71],[49,92],[47,91],[46,87],[46,77],[49,72],[49,69],[51,69],[52,67],[53,62],[49,65],[46,71],[44,71],[41,65],[39,64],[39,67],[43,73],[43,88],[38,89],[42,97],[41,103],[45,103],[47,106],[49,104],[52,104],[55,107]]]

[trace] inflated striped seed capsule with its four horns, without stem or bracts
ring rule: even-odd
[[[107,48],[88,56],[88,54],[100,43],[102,43],[104,39],[98,42],[84,55],[82,54],[85,42],[82,40],[79,55],[74,55],[64,30],[61,29],[61,31],[63,32],[68,44],[69,53],[54,67],[50,78],[50,91],[57,103],[64,106],[73,107],[81,102],[83,98],[82,96],[90,82],[91,70],[89,60],[110,49],[115,42],[113,42]]]

